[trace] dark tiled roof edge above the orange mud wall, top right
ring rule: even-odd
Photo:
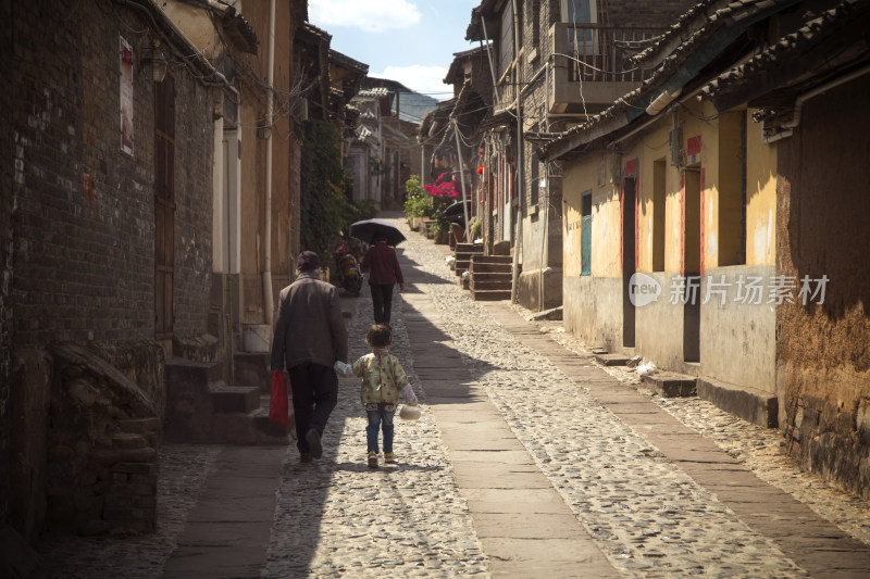
[[[739,80],[751,74],[760,74],[763,68],[783,58],[784,54],[795,50],[806,52],[811,50],[815,40],[819,39],[819,33],[838,23],[845,23],[861,12],[869,12],[870,4],[860,0],[844,0],[836,7],[825,10],[817,17],[807,21],[796,32],[780,38],[776,43],[771,45],[746,62],[723,72],[713,80],[704,86],[700,93],[707,97],[722,91],[729,84]],[[833,30],[829,34],[835,34]]]

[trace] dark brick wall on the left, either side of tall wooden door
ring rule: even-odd
[[[133,156],[119,134],[119,36],[134,53],[141,38],[117,18],[138,15],[89,2],[15,10],[15,342],[152,338],[153,85],[138,63]],[[175,76],[176,331],[192,333],[208,306],[211,104]]]

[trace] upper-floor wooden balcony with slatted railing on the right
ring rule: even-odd
[[[548,112],[592,116],[639,87],[651,70],[632,70],[625,66],[624,56],[663,32],[664,28],[554,24],[548,34],[554,54]]]

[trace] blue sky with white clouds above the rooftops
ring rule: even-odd
[[[437,100],[480,0],[309,0],[308,20],[330,33],[331,48],[369,65],[369,76],[398,80]]]

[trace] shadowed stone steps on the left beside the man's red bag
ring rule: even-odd
[[[288,444],[269,419],[271,382],[231,386],[222,364],[166,361],[166,438],[173,442]]]

